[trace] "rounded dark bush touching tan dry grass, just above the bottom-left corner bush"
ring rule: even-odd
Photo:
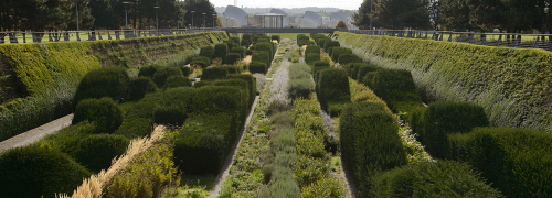
[[[75,161],[94,173],[112,166],[112,160],[123,155],[130,141],[123,135],[95,134],[83,139],[74,152]]]

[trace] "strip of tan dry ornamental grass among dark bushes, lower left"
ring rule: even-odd
[[[102,189],[108,186],[115,176],[117,176],[123,169],[125,169],[135,158],[135,156],[148,150],[156,142],[160,141],[164,136],[166,127],[158,125],[151,133],[151,138],[141,138],[130,141],[127,152],[115,157],[112,161],[112,166],[105,170],[102,169],[98,175],[93,175],[91,178],[85,178],[83,184],[73,191],[73,196],[67,196],[65,194],[56,195],[57,198],[100,198]]]

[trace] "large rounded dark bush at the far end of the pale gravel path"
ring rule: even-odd
[[[120,67],[103,67],[86,74],[73,99],[73,109],[84,99],[109,97],[118,102],[130,81],[127,72]]]

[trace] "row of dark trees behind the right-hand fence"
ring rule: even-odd
[[[364,0],[360,29],[552,32],[552,0]]]

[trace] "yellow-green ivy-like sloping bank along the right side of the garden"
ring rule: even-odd
[[[411,70],[426,101],[473,101],[495,125],[552,132],[552,53],[336,32],[364,61]]]

